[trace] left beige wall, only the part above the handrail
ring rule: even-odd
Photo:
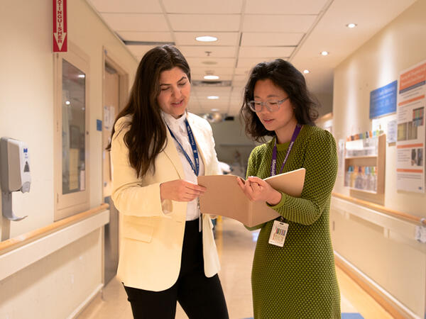
[[[28,218],[11,223],[11,237],[53,222],[52,1],[1,3],[0,136],[23,140],[30,150],[31,191],[13,193],[13,211]],[[130,75],[137,62],[84,0],[68,1],[68,36],[89,56],[90,206],[102,202],[103,50]]]

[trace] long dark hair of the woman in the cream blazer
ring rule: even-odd
[[[157,98],[160,94],[160,73],[179,67],[191,81],[190,66],[182,53],[172,45],[154,47],[146,52],[139,63],[135,81],[126,107],[116,117],[115,122],[131,115],[129,130],[124,135],[124,142],[129,148],[129,162],[142,177],[153,167],[155,157],[166,145],[166,128],[161,118]],[[114,122],[114,125],[115,125]],[[112,129],[111,140],[115,129]],[[111,150],[111,142],[107,146]]]

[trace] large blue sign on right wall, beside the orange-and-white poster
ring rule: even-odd
[[[396,112],[398,81],[370,92],[370,118],[378,118]]]

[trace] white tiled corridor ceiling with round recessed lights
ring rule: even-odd
[[[141,57],[175,43],[192,80],[215,74],[229,86],[192,86],[190,111],[235,116],[258,62],[288,60],[314,94],[332,94],[333,69],[415,0],[87,0],[129,50]],[[346,24],[356,23],[356,28]],[[195,37],[213,35],[214,43]],[[320,52],[327,50],[327,56]],[[219,96],[209,100],[207,96]]]

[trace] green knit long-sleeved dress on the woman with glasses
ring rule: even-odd
[[[271,176],[275,138],[255,147],[247,177]],[[277,171],[289,142],[277,145]],[[303,125],[283,172],[305,167],[302,196],[283,194],[272,206],[289,224],[283,247],[268,243],[273,220],[261,228],[251,273],[255,319],[340,318],[340,293],[329,233],[329,206],[337,175],[337,151],[326,130]],[[277,172],[278,174],[279,172]]]

